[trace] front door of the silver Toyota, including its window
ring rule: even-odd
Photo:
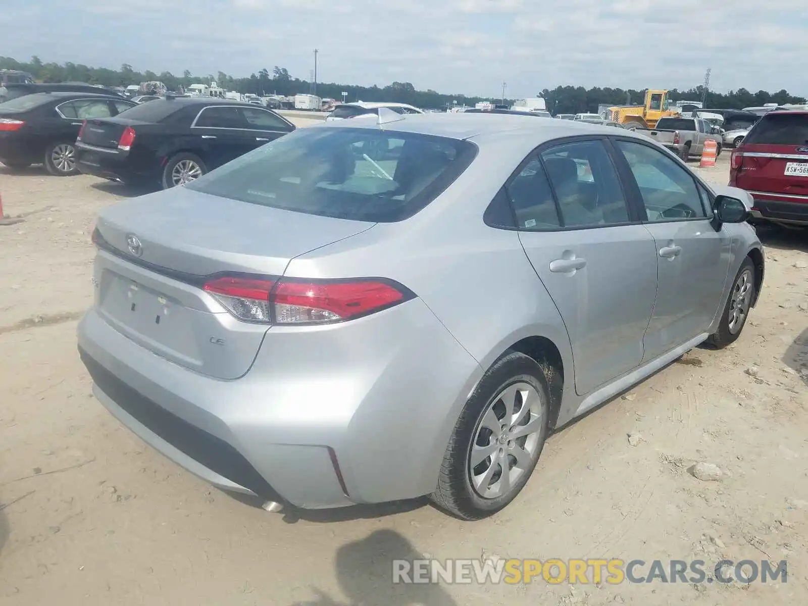
[[[730,237],[713,229],[706,187],[675,158],[640,141],[618,140],[615,147],[656,244],[659,284],[645,337],[645,360],[651,360],[713,322],[729,270]]]

